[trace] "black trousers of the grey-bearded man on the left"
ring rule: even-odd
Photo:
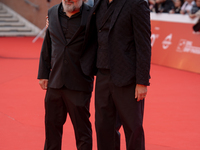
[[[92,130],[89,121],[89,104],[91,93],[48,88],[45,97],[45,131],[44,150],[61,150],[63,125],[67,113],[74,127],[78,150],[92,149]]]

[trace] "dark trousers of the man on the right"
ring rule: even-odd
[[[110,71],[99,69],[95,89],[95,127],[98,150],[115,150],[116,113],[125,132],[127,150],[144,150],[144,100],[135,99],[135,83],[117,87]]]

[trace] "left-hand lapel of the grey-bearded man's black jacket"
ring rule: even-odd
[[[57,5],[56,6],[56,12],[53,13],[55,14],[54,18],[55,18],[55,24],[56,24],[56,30],[58,32],[58,34],[60,35],[61,39],[62,39],[62,42],[64,44],[66,44],[66,40],[65,40],[65,36],[63,34],[63,31],[62,31],[62,28],[61,28],[61,24],[60,24],[60,20],[59,20],[59,8],[61,7],[62,3],[60,5]]]

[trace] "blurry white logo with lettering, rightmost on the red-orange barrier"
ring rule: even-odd
[[[200,47],[193,46],[192,43],[192,41],[181,39],[179,41],[176,51],[200,55]]]

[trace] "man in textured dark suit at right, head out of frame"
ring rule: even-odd
[[[143,112],[150,78],[147,0],[95,0],[89,17],[97,39],[95,127],[98,150],[116,149],[117,113],[127,150],[145,150]],[[92,27],[94,30],[92,31]],[[96,35],[94,35],[96,33]]]

